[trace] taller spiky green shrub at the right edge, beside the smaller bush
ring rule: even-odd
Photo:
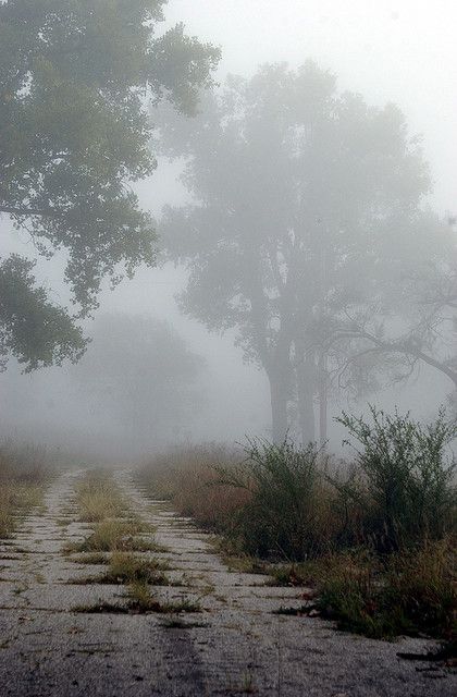
[[[456,524],[456,462],[446,447],[457,421],[444,411],[427,426],[409,414],[370,411],[370,424],[345,413],[336,419],[360,445],[354,476],[333,480],[345,505],[360,511],[365,537],[379,550],[441,539]]]

